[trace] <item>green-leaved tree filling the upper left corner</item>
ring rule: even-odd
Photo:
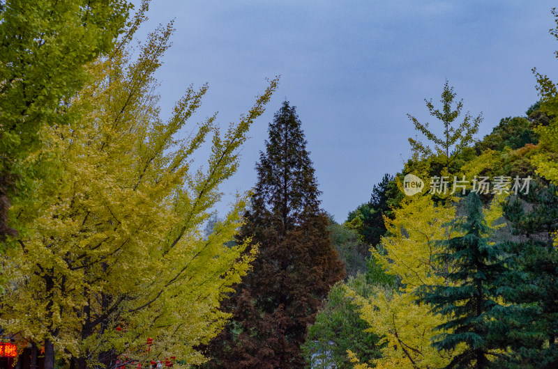
[[[67,123],[61,111],[88,78],[83,66],[110,54],[130,7],[126,0],[0,1],[0,240],[24,230],[8,209],[32,200],[38,177],[23,161],[42,145],[40,129]]]

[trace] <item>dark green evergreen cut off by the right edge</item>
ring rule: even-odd
[[[504,206],[517,242],[507,242],[510,270],[502,278],[499,335],[518,368],[558,367],[558,188],[531,183]]]

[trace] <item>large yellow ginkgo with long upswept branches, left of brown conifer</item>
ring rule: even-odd
[[[144,10],[146,3],[128,35]],[[27,159],[37,171],[56,164],[61,175],[55,186],[37,184],[33,206],[13,207],[30,232],[3,259],[10,284],[0,313],[15,338],[44,345],[45,368],[54,354],[78,368],[114,368],[123,357],[201,363],[195,347],[225,324],[219,301],[257,252],[226,245],[246,194],[209,237],[203,225],[278,81],[225,132],[216,116],[189,123],[207,86],[187,88],[162,120],[153,73],[172,31],[172,22],[160,26],[138,49],[129,37],[91,63],[91,80],[68,106],[78,118],[46,128],[47,147]],[[209,138],[206,164],[193,167]]]

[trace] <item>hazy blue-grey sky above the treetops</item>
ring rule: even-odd
[[[137,3],[137,1],[135,1]],[[296,106],[322,207],[342,222],[370,199],[384,173],[402,170],[414,126],[431,127],[425,98],[446,79],[465,111],[483,114],[477,138],[538,100],[531,72],[558,80],[551,1],[183,1],[153,0],[141,39],[174,19],[172,48],[156,77],[162,116],[193,84],[209,92],[193,120],[218,111],[238,122],[266,88],[280,84],[250,129],[239,170],[222,187],[224,214],[255,185],[269,122],[285,99]],[[206,152],[199,153],[199,161]]]

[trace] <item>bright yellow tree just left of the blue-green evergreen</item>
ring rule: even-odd
[[[371,299],[349,292],[361,306],[361,317],[370,330],[384,336],[386,347],[376,368],[440,368],[451,355],[435,350],[431,338],[444,318],[430,313],[430,306],[419,305],[414,290],[421,285],[445,283],[445,265],[433,258],[439,251],[436,240],[451,237],[442,224],[455,216],[455,208],[436,206],[428,195],[405,198],[394,219],[385,219],[388,233],[382,249],[372,255],[389,274],[400,278],[400,291],[378,286]],[[362,364],[359,364],[362,365]],[[365,368],[361,366],[359,368]]]

